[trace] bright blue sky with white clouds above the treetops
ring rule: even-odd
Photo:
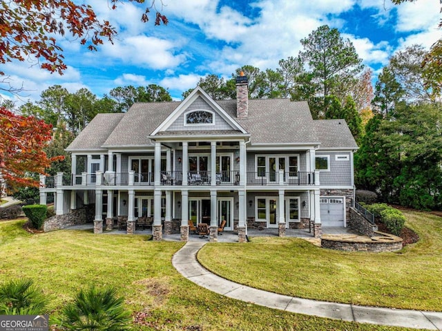
[[[87,1],[86,1],[87,2]],[[146,0],[148,2],[148,0]],[[366,66],[379,70],[396,52],[412,44],[429,48],[441,37],[438,0],[417,0],[394,6],[390,0],[163,0],[167,26],[142,23],[143,7],[90,0],[102,19],[119,31],[112,45],[97,52],[61,39],[68,70],[63,76],[30,66],[2,65],[12,84],[26,90],[21,100],[39,100],[41,91],[60,84],[75,92],[88,88],[102,97],[117,86],[158,84],[174,100],[196,86],[200,77],[230,78],[244,65],[277,68],[280,59],[298,55],[300,39],[323,24],[349,38]],[[160,0],[155,1],[161,6]],[[151,15],[153,18],[153,15]]]

